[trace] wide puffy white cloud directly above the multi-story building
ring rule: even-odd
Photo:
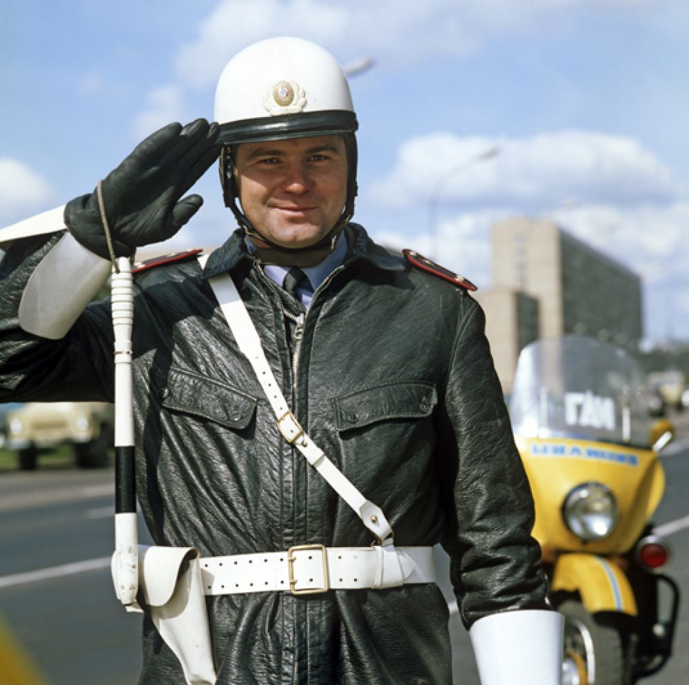
[[[486,159],[486,152],[497,154]],[[429,134],[400,145],[393,170],[373,185],[378,202],[419,201],[552,210],[564,201],[666,203],[686,189],[637,141],[586,131],[522,139]]]

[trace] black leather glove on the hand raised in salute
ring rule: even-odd
[[[219,127],[205,119],[171,123],[139,143],[103,179],[105,215],[114,254],[171,238],[203,204],[200,195],[180,199],[218,158]],[[96,191],[65,206],[65,225],[91,252],[110,259]]]

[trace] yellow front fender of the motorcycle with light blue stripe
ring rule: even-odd
[[[559,556],[553,567],[551,591],[578,592],[589,613],[618,611],[637,615],[634,593],[624,572],[595,554]]]

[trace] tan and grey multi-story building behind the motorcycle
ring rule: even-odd
[[[512,218],[491,232],[493,288],[477,293],[506,392],[536,338],[584,334],[637,351],[641,278],[553,221]]]

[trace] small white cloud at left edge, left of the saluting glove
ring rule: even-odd
[[[55,198],[56,192],[43,176],[18,159],[0,157],[0,226],[49,209]]]

